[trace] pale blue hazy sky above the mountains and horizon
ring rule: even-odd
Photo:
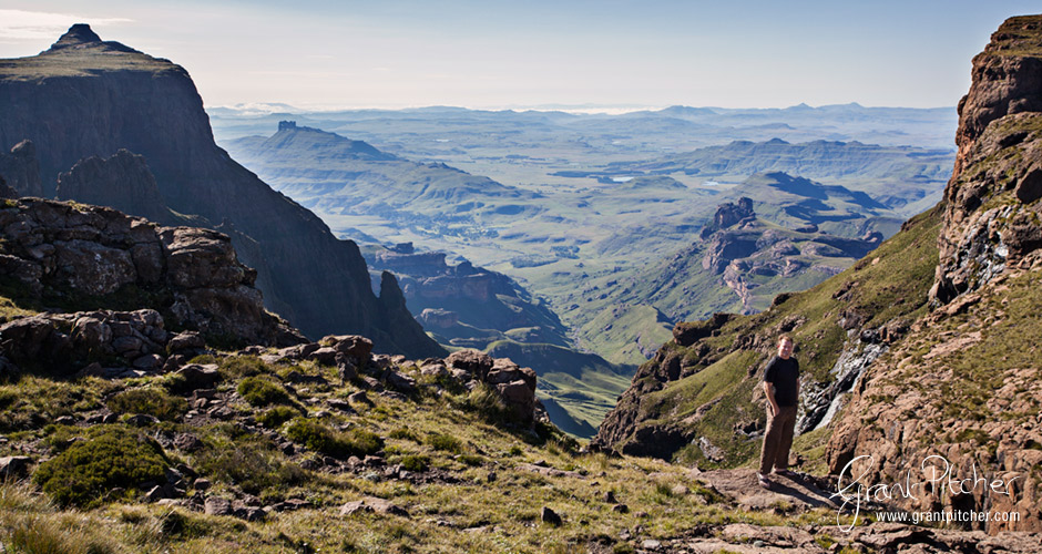
[[[184,66],[207,106],[953,106],[1028,1],[0,3],[0,58],[71,24]]]

